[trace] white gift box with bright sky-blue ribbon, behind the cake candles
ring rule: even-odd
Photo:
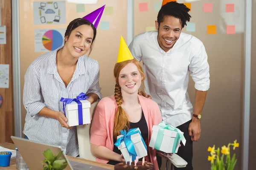
[[[146,144],[141,136],[140,128],[120,130],[121,135],[117,136],[115,146],[121,151],[125,161],[131,161],[143,158],[148,155]]]

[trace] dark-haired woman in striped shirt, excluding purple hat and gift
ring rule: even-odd
[[[76,98],[81,92],[90,103],[102,98],[99,64],[85,55],[90,54],[95,37],[93,24],[77,18],[67,26],[64,46],[29,65],[23,89],[26,139],[58,145],[64,154],[79,156],[76,127],[67,125],[60,99]]]

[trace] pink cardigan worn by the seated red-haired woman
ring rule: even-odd
[[[156,102],[140,95],[138,95],[138,97],[148,125],[148,140],[145,141],[145,144],[151,160],[148,160],[148,156],[146,156],[145,159],[148,162],[153,163],[155,170],[158,170],[156,150],[152,147],[148,147],[148,145],[152,135],[152,127],[153,125],[158,125],[162,121],[162,116]],[[116,110],[117,104],[114,95],[105,97],[99,102],[93,115],[91,125],[91,144],[105,146],[108,149],[113,150],[113,128]],[[96,161],[108,163],[108,160],[99,158],[97,158]]]

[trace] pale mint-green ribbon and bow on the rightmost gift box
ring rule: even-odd
[[[158,124],[158,127],[159,127],[159,129],[158,129],[158,133],[157,133],[157,140],[156,140],[156,143],[154,145],[154,148],[156,150],[160,150],[160,146],[161,146],[161,143],[163,141],[163,133],[164,133],[164,130],[166,130],[166,129],[177,132],[178,135],[180,136],[181,142],[184,145],[186,144],[186,139],[185,139],[183,133],[177,127],[173,127],[172,125],[168,125],[163,121]],[[176,138],[177,138],[177,136],[176,136]]]

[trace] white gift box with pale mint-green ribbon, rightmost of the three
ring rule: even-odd
[[[165,153],[177,153],[180,141],[185,145],[186,139],[178,128],[165,124],[163,121],[154,125],[149,147]]]

